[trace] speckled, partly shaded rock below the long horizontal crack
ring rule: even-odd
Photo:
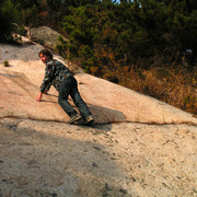
[[[195,126],[0,124],[0,196],[197,196]]]

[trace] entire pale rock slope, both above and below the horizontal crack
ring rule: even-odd
[[[95,125],[65,124],[53,88],[35,101],[45,69],[40,49],[0,45],[0,196],[197,195],[196,118],[79,72]]]

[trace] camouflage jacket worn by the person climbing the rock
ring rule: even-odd
[[[65,78],[72,77],[70,70],[60,61],[53,59],[46,62],[45,77],[40,85],[40,92],[48,91],[51,85],[59,91],[59,85]]]

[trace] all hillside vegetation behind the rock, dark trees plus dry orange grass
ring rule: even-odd
[[[85,72],[197,115],[194,0],[1,0],[0,42],[24,26],[69,38],[56,50]]]

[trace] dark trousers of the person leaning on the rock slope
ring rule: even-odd
[[[70,116],[77,115],[77,111],[70,105],[70,103],[67,101],[68,96],[71,96],[73,100],[73,103],[78,107],[80,114],[85,119],[91,115],[91,112],[89,111],[86,104],[82,100],[79,91],[78,91],[78,82],[73,77],[66,78],[62,83],[59,86],[59,96],[58,96],[58,103],[62,107],[62,109]]]

